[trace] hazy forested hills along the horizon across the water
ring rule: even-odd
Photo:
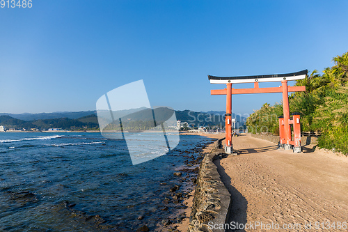
[[[49,128],[61,128],[63,130],[97,130],[99,128],[96,111],[79,111],[79,112],[54,112],[42,114],[0,114],[0,125],[8,128],[29,130],[36,128],[39,130]],[[109,111],[103,112],[104,116],[110,117]],[[139,125],[139,121],[151,121],[151,109],[129,109],[124,111],[113,111],[114,116],[120,116],[124,127],[127,125]],[[173,111],[168,108],[155,109],[154,113],[157,123],[167,121],[173,115]],[[224,127],[225,111],[208,111],[196,112],[191,110],[175,111],[177,120],[187,122],[194,127],[199,126],[219,126]],[[116,116],[117,115],[117,116]],[[232,114],[235,118],[235,114]],[[237,127],[243,126],[245,123],[244,117],[237,115]],[[118,125],[119,123],[116,123]],[[170,123],[175,125],[173,121]],[[168,124],[169,125],[169,124]]]

